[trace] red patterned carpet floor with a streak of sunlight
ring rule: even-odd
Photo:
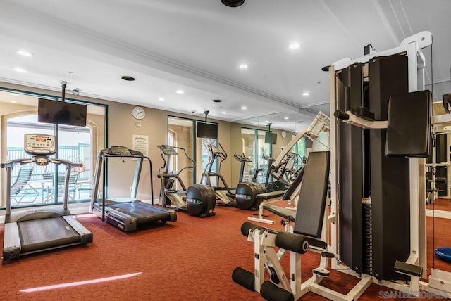
[[[240,233],[252,212],[232,207],[215,211],[215,217],[206,219],[179,212],[177,222],[132,233],[80,215],[79,221],[94,233],[94,243],[2,264],[0,300],[262,300],[231,280],[235,267],[253,269],[252,243]],[[3,236],[1,225],[1,241]],[[303,257],[305,279],[318,263],[315,253]],[[357,279],[338,271],[323,281],[342,293],[354,283]],[[372,284],[360,300],[378,299],[387,290]],[[302,300],[324,299],[308,293]]]

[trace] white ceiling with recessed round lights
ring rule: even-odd
[[[2,0],[0,81],[54,91],[67,81],[83,96],[299,131],[328,113],[321,68],[367,44],[432,32],[426,82],[435,100],[449,93],[450,11],[449,0]]]

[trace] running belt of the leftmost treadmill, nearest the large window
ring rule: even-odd
[[[62,217],[18,222],[22,253],[80,243],[80,235]]]

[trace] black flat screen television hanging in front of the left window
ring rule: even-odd
[[[85,127],[86,111],[86,105],[39,98],[37,105],[37,121]]]

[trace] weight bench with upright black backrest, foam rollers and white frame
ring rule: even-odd
[[[326,200],[328,195],[330,152],[310,153],[305,166],[303,184],[299,191],[293,233],[277,231],[254,225],[242,224],[241,232],[248,241],[254,242],[254,273],[237,267],[233,281],[241,286],[261,293],[266,300],[297,300],[328,276],[328,253],[326,232],[328,218]],[[277,206],[266,206],[276,209]],[[285,212],[279,207],[278,212]],[[289,210],[292,212],[291,210]],[[279,248],[276,252],[276,247]],[[290,274],[280,264],[280,259],[290,251]],[[309,280],[302,283],[301,255],[307,250],[321,252],[320,267],[314,269]],[[271,281],[264,281],[265,271]],[[369,284],[368,284],[369,285]]]

